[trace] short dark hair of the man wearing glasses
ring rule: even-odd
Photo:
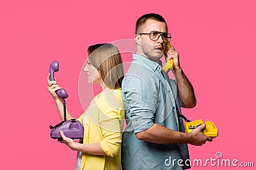
[[[141,26],[142,26],[143,24],[145,24],[145,23],[147,22],[147,20],[156,20],[156,21],[158,21],[158,22],[164,22],[164,23],[166,24],[164,18],[163,18],[161,15],[159,15],[159,14],[157,14],[157,13],[147,13],[147,14],[145,14],[145,15],[142,15],[142,16],[137,20],[137,22],[136,22],[135,34],[140,33],[140,32],[138,32],[138,30],[141,29]]]

